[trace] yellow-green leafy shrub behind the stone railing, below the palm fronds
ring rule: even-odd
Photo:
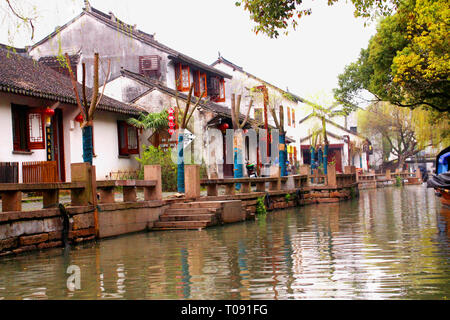
[[[165,192],[177,191],[177,164],[172,161],[172,151],[167,151],[154,146],[144,146],[142,157],[136,157],[141,164],[139,171],[139,179],[144,178],[144,166],[151,164],[159,164],[161,166],[161,182],[162,189]]]

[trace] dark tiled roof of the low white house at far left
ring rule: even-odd
[[[78,87],[81,94],[81,85]],[[69,77],[31,58],[0,48],[0,91],[77,104]],[[92,96],[87,88],[86,95]],[[138,115],[143,110],[103,96],[99,110]]]

